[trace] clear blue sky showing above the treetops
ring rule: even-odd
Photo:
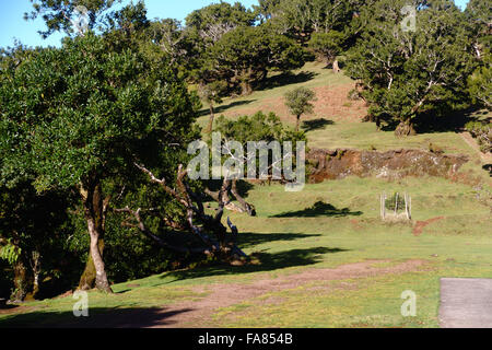
[[[235,2],[235,0],[225,1]],[[192,10],[212,2],[220,2],[220,0],[144,0],[144,2],[150,19],[184,20]],[[241,2],[246,7],[258,3],[257,0],[242,0]],[[455,2],[465,8],[468,0],[455,0]],[[62,34],[54,34],[46,40],[37,34],[39,30],[45,28],[43,20],[24,21],[24,13],[30,12],[31,9],[30,0],[0,0],[0,47],[12,46],[14,38],[28,46],[59,46]]]

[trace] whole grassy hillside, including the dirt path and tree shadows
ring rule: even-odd
[[[315,113],[303,119],[308,147],[388,151],[430,143],[469,161],[456,176],[385,179],[349,176],[285,192],[254,185],[258,215],[227,213],[239,229],[248,266],[212,266],[113,285],[90,293],[89,318],[74,318],[71,294],[0,310],[0,327],[438,327],[440,278],[491,277],[492,184],[489,162],[456,130],[398,139],[362,122],[366,107],[347,96],[354,82],[321,65],[270,77],[269,89],[230,98],[218,115],[276,112],[294,125],[283,94],[314,89]],[[485,115],[480,115],[485,117]],[[198,121],[208,122],[207,109]],[[412,223],[379,219],[383,191],[412,196]],[[418,295],[417,317],[400,314],[401,293]]]

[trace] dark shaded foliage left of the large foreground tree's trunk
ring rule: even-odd
[[[50,281],[40,285],[48,295],[72,288],[80,277],[80,258],[67,244],[75,229],[67,210],[74,202],[70,192],[37,194],[30,183],[0,186],[0,255],[11,266],[19,262],[27,268],[16,276],[27,289],[33,288],[36,260],[39,281]]]

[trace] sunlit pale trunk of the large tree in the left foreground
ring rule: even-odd
[[[84,213],[87,222],[91,246],[87,265],[81,277],[79,288],[87,290],[95,287],[99,291],[113,293],[107,280],[102,252],[104,247],[105,213],[101,183],[97,179],[91,180],[86,188],[81,190],[81,195],[84,202]]]

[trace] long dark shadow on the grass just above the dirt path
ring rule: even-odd
[[[174,271],[163,275],[162,278],[174,278],[174,280],[164,283],[168,284],[180,280],[189,280],[210,276],[268,272],[290,267],[315,265],[323,261],[321,255],[342,252],[349,250],[341,248],[314,247],[308,249],[293,249],[279,253],[260,252],[251,254],[251,257],[257,259],[258,264],[249,264],[245,266],[214,265],[192,270]]]

